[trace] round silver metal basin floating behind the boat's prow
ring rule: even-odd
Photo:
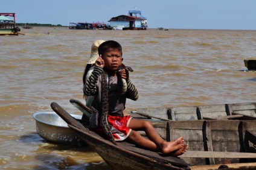
[[[81,119],[80,115],[72,115]],[[60,118],[55,112],[37,112],[32,116],[36,120],[36,131],[40,137],[48,142],[83,143],[83,140]]]

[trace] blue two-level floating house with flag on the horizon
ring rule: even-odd
[[[147,18],[141,11],[129,10],[128,15],[112,17],[109,25],[112,30],[147,30]]]

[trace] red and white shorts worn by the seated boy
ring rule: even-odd
[[[109,127],[111,128],[111,132],[113,134],[113,137],[116,141],[121,141],[126,139],[132,129],[130,129],[129,123],[130,119],[132,119],[130,116],[107,116],[107,119],[109,121]],[[100,134],[101,136],[106,136],[104,133],[102,127],[98,126],[97,128],[93,128],[93,130]]]

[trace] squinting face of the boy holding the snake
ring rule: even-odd
[[[108,69],[109,71],[117,71],[123,61],[119,49],[107,49],[102,58],[104,60],[104,68]]]

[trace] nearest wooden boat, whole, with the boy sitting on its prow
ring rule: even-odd
[[[113,169],[194,169],[193,166],[211,169],[223,164],[234,169],[256,168],[256,121],[153,121],[165,140],[184,136],[190,144],[189,151],[182,156],[170,157],[136,148],[128,142],[114,145],[84,127],[56,102],[51,107]]]

